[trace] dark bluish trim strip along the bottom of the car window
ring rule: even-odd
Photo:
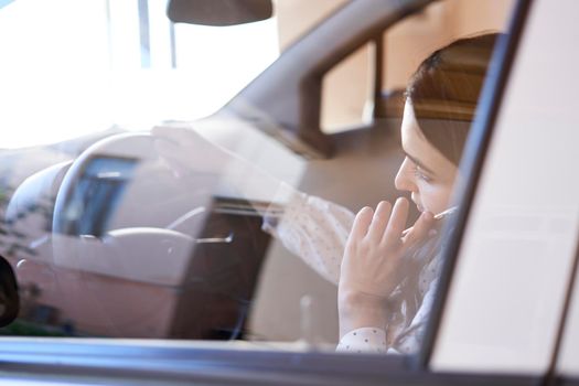
[[[410,357],[195,347],[184,342],[10,339],[0,349],[4,377],[171,385],[536,385],[525,375],[442,374]]]

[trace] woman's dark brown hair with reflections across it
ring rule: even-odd
[[[457,165],[498,36],[501,33],[464,37],[435,51],[406,88],[420,130]]]

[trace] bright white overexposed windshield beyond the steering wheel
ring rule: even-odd
[[[277,18],[172,24],[167,1],[0,4],[0,127],[10,149],[216,111],[279,54]]]

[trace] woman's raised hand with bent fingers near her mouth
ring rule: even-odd
[[[376,211],[364,207],[356,215],[339,283],[341,336],[363,326],[384,328],[386,299],[399,282],[401,257],[433,225],[432,214],[425,212],[403,236],[408,206],[406,199],[398,199],[394,207],[383,201]]]

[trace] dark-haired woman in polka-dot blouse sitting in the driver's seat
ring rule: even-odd
[[[279,225],[266,216],[266,230],[339,283],[339,351],[419,349],[441,264],[435,216],[449,210],[461,178],[458,167],[496,39],[467,37],[436,51],[408,84],[400,128],[406,158],[395,184],[421,212],[410,229],[406,199],[364,207],[353,219],[343,207],[296,193]]]

